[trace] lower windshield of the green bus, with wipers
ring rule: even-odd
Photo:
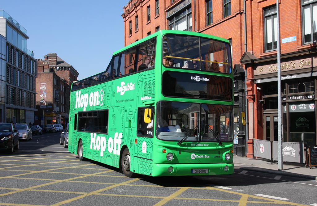
[[[232,106],[161,101],[156,108],[156,135],[161,140],[233,141]]]

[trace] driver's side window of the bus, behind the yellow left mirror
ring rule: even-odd
[[[149,109],[149,110],[146,110]],[[150,112],[150,110],[152,110]],[[145,112],[147,111],[147,113]],[[144,115],[150,117],[151,122],[145,123],[144,122]],[[147,137],[153,137],[153,119],[154,119],[154,107],[145,107],[145,108],[139,108],[138,109],[138,130],[137,135],[138,136],[147,136]]]

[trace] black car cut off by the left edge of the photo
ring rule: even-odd
[[[0,123],[0,150],[13,153],[20,146],[19,132],[11,123]]]

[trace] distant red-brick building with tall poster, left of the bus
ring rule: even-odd
[[[36,124],[65,126],[69,117],[70,84],[77,81],[79,73],[56,53],[37,59],[37,69]]]

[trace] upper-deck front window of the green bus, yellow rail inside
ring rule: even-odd
[[[231,73],[230,44],[195,36],[165,35],[165,67]],[[199,55],[200,54],[200,55]]]

